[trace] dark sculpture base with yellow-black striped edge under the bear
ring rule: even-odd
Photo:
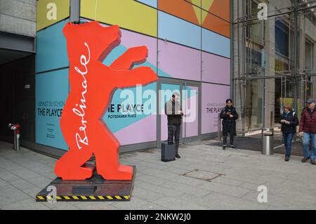
[[[62,180],[55,178],[48,186],[56,187],[56,202],[106,202],[130,201],[136,166],[133,167],[132,180],[105,180],[96,171],[87,180]],[[47,186],[47,187],[48,187]],[[53,201],[45,187],[36,196],[37,202]]]

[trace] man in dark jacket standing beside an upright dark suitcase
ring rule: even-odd
[[[179,155],[179,141],[180,141],[180,128],[182,123],[183,111],[180,106],[180,94],[175,92],[171,100],[164,105],[164,112],[168,119],[168,143],[173,144],[173,137],[176,143],[176,158],[180,159]]]

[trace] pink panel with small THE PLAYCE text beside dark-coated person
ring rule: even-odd
[[[202,83],[202,134],[218,130],[218,113],[225,107],[229,95],[230,86]]]

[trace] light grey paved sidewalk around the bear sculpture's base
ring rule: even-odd
[[[0,142],[0,209],[316,209],[316,166],[210,143],[181,145],[182,158],[168,163],[156,149],[121,155],[137,169],[131,202],[48,203],[34,197],[55,178],[55,159]],[[259,185],[267,203],[257,201]]]

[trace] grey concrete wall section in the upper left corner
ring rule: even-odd
[[[0,0],[0,31],[35,37],[36,0]]]

